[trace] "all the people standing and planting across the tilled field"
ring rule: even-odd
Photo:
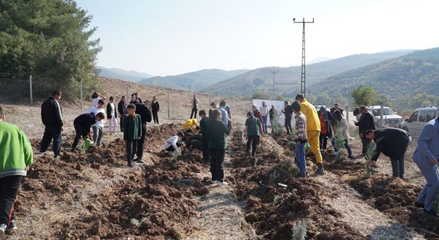
[[[59,100],[62,92],[56,90],[51,97],[45,100],[41,106],[41,119],[45,125],[45,132],[40,143],[40,153],[45,153],[47,147],[53,140],[54,155],[60,154],[61,133],[64,131],[64,120],[62,118],[62,108]],[[109,119],[110,133],[115,133],[117,122],[115,116],[117,111],[121,117],[121,131],[123,140],[126,142],[126,160],[128,167],[134,166],[134,161],[143,163],[143,145],[145,143],[146,124],[154,118],[152,106],[156,104],[158,112],[158,102],[155,97],[152,102],[142,102],[138,94],[132,96],[130,104],[125,103],[124,97],[119,101],[116,110],[114,98],[110,97],[106,110],[104,107],[104,97],[99,92],[93,93],[93,108],[86,113],[78,116],[73,121],[76,136],[72,148],[75,149],[78,141],[86,136],[93,139],[98,145],[102,137],[102,125],[99,121]],[[194,96],[194,105],[197,102]],[[198,110],[198,106],[193,108]],[[263,106],[257,109],[252,107],[252,111],[247,112],[246,126],[244,133],[248,138],[246,151],[252,156],[256,153],[259,137],[267,133],[264,127],[267,121],[267,115],[270,121],[274,121],[272,116],[276,116],[274,106],[268,110],[265,102]],[[273,110],[273,111],[272,111]],[[296,143],[296,164],[300,169],[298,178],[307,176],[305,165],[305,143],[311,145],[311,152],[316,156],[318,165],[318,174],[324,174],[323,159],[320,150],[327,148],[327,141],[332,140],[332,135],[341,134],[348,149],[351,158],[352,152],[348,145],[348,123],[344,119],[344,110],[335,104],[329,112],[325,108],[319,111],[310,104],[302,95],[296,96],[296,101],[291,105],[285,102],[285,128],[287,133],[291,133],[291,117],[294,113],[294,142]],[[193,112],[195,113],[195,112]],[[291,114],[290,114],[291,113]],[[404,161],[412,138],[408,132],[398,128],[380,128],[375,129],[373,115],[368,111],[366,106],[361,106],[356,110],[359,136],[362,143],[362,154],[368,154],[368,145],[370,141],[375,141],[376,147],[372,153],[368,166],[376,163],[379,155],[382,153],[388,156],[392,163],[392,176],[402,178],[404,176]],[[226,145],[228,136],[232,130],[230,108],[226,101],[222,100],[219,106],[211,104],[209,115],[205,110],[200,110],[198,114],[201,117],[200,125],[196,119],[189,119],[184,125],[182,132],[167,139],[164,147],[168,152],[179,151],[182,141],[186,142],[189,150],[192,148],[200,149],[203,153],[205,163],[210,162],[210,171],[212,182],[219,186],[227,184],[224,181],[224,157],[226,154]],[[123,116],[123,117],[122,117]],[[193,115],[191,115],[193,117]],[[287,124],[289,119],[289,124]],[[98,124],[97,124],[98,123]],[[158,123],[158,119],[156,121]],[[93,136],[91,130],[93,128]],[[333,140],[332,140],[333,142]],[[414,206],[423,208],[425,213],[438,216],[439,213],[433,208],[434,197],[439,188],[439,176],[437,173],[437,164],[439,159],[439,117],[429,121],[423,128],[417,140],[414,151],[414,163],[425,176],[427,183],[414,202]],[[250,153],[250,145],[252,152]],[[15,125],[5,122],[5,110],[0,106],[0,235],[10,232],[17,228],[14,219],[14,203],[19,190],[21,180],[27,174],[27,166],[33,163],[32,146],[27,136]],[[134,156],[137,158],[134,159]]]

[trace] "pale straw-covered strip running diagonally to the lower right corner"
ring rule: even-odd
[[[335,193],[327,195],[325,202],[342,215],[342,221],[368,239],[425,239],[364,202],[355,189],[329,171],[315,179],[324,189]]]

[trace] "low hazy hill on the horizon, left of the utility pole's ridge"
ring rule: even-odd
[[[163,86],[167,88],[175,88],[187,90],[191,85],[191,91],[200,91],[200,89],[226,80],[230,77],[235,77],[242,73],[246,73],[247,69],[225,71],[222,69],[203,69],[191,73],[183,73],[180,75],[170,75],[166,77],[151,77],[147,80],[142,80],[139,84],[151,86]]]

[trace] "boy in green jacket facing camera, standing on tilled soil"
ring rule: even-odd
[[[142,136],[142,121],[140,115],[136,114],[136,106],[130,104],[126,107],[128,116],[123,123],[123,141],[126,143],[126,160],[128,167],[134,167],[132,159],[137,152],[137,140]]]

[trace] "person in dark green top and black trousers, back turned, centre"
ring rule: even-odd
[[[221,121],[221,112],[217,109],[212,112],[212,121],[207,127],[209,132],[209,152],[211,154],[212,182],[219,186],[227,185],[224,182],[224,155],[226,154],[226,135],[232,130],[232,121],[228,119],[227,127]]]

